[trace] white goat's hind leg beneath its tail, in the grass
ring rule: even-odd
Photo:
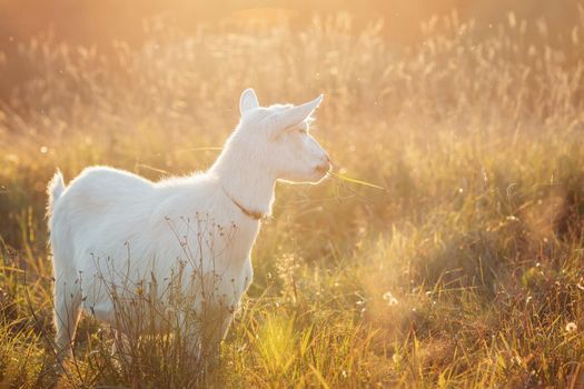
[[[55,280],[55,328],[58,361],[62,362],[71,352],[72,341],[81,312],[80,279],[61,275]]]

